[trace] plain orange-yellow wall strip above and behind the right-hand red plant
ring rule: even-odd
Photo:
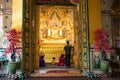
[[[102,27],[101,23],[101,0],[88,0],[90,47],[95,43],[94,32]]]

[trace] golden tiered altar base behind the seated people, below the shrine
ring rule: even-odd
[[[60,55],[64,54],[64,43],[44,43],[40,45],[40,55],[45,55],[45,62],[51,62],[53,57],[58,62]]]

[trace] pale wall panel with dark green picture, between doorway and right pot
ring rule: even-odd
[[[101,71],[101,52],[90,50],[90,71]]]

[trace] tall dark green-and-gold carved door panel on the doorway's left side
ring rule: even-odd
[[[23,0],[23,27],[22,27],[22,40],[23,40],[23,52],[22,52],[22,72],[31,72],[31,3],[32,0]]]

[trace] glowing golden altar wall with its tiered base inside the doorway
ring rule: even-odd
[[[66,41],[74,46],[73,6],[39,6],[38,15],[39,55],[45,55],[46,63],[53,57],[58,62]]]

